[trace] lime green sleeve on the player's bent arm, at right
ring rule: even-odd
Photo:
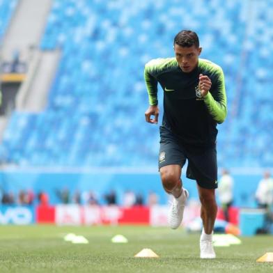
[[[224,72],[221,68],[217,71],[215,85],[213,91],[209,91],[208,94],[205,95],[204,102],[212,118],[214,118],[217,123],[223,123],[227,114],[227,106]]]

